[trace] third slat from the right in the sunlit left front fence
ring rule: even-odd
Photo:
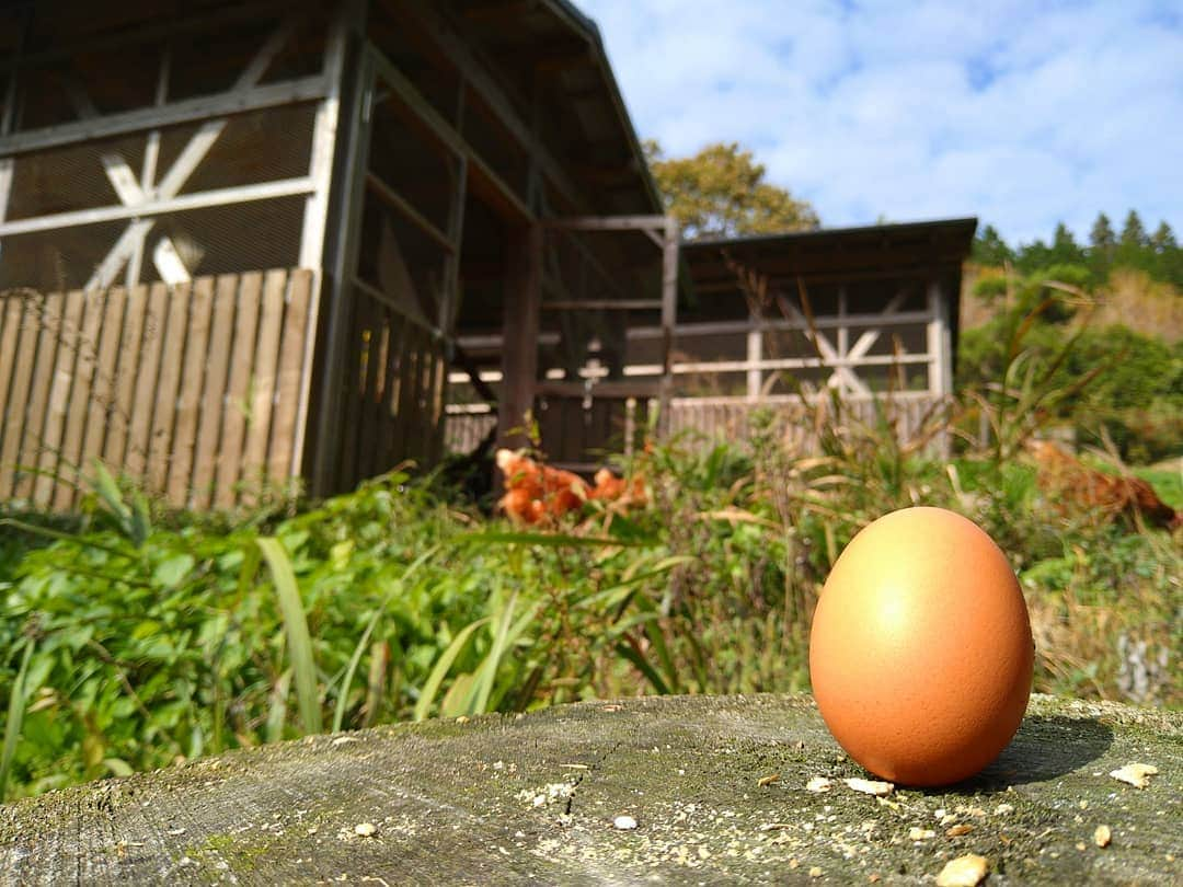
[[[230,383],[226,388],[227,402],[222,419],[220,458],[214,486],[214,505],[232,507],[238,499],[238,483],[243,468],[243,445],[246,432],[246,410],[254,370],[256,331],[259,325],[259,293],[263,273],[251,271],[243,274],[238,290],[234,323],[233,357]]]

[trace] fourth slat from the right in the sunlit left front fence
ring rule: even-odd
[[[215,283],[213,322],[201,397],[201,420],[193,453],[193,490],[189,504],[194,509],[208,509],[214,496],[214,479],[220,461],[218,441],[226,410],[230,408],[226,402],[226,380],[230,377],[238,284],[237,274],[222,274]]]

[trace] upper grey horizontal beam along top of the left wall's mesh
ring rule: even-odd
[[[0,137],[0,156],[27,154],[92,138],[108,138],[159,127],[172,127],[177,123],[192,123],[211,117],[228,117],[259,111],[264,108],[311,102],[324,98],[328,89],[329,84],[325,78],[322,75],[315,75],[296,80],[221,92],[215,96],[170,102],[160,108],[137,108],[134,111],[108,114],[90,121],[15,132]]]

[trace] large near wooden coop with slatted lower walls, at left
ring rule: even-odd
[[[175,505],[327,494],[434,462],[446,389],[586,452],[672,390],[660,212],[565,0],[7,4],[0,500],[71,507],[95,459]]]

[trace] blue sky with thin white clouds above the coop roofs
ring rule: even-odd
[[[827,226],[1183,239],[1183,0],[576,0],[641,137],[738,141]]]

